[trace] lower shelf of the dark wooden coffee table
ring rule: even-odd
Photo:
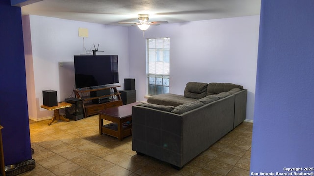
[[[101,127],[101,134],[102,133],[107,134],[109,136],[116,137],[120,141],[122,141],[123,138],[132,135],[132,126],[131,125],[127,125],[127,126],[122,125],[121,134],[119,134],[118,124],[113,122],[113,123],[106,124],[106,125],[102,126]]]

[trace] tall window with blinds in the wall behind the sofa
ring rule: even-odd
[[[146,39],[148,95],[169,93],[170,38]]]

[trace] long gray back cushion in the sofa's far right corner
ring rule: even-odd
[[[243,86],[232,83],[209,83],[206,95],[219,94],[220,92],[228,92],[233,88],[243,90]]]

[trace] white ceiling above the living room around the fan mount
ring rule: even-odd
[[[30,0],[31,1],[31,0]],[[22,6],[32,14],[92,23],[130,26],[137,14],[169,23],[259,15],[261,0],[34,0]],[[21,5],[18,5],[21,6]]]

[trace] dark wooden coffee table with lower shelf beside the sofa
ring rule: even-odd
[[[127,124],[127,122],[131,122],[132,120],[132,106],[140,103],[141,102],[134,102],[98,111],[99,134],[104,133],[117,137],[120,141],[122,141],[124,137],[132,135],[132,125]],[[103,120],[108,120],[112,123],[104,125]]]

